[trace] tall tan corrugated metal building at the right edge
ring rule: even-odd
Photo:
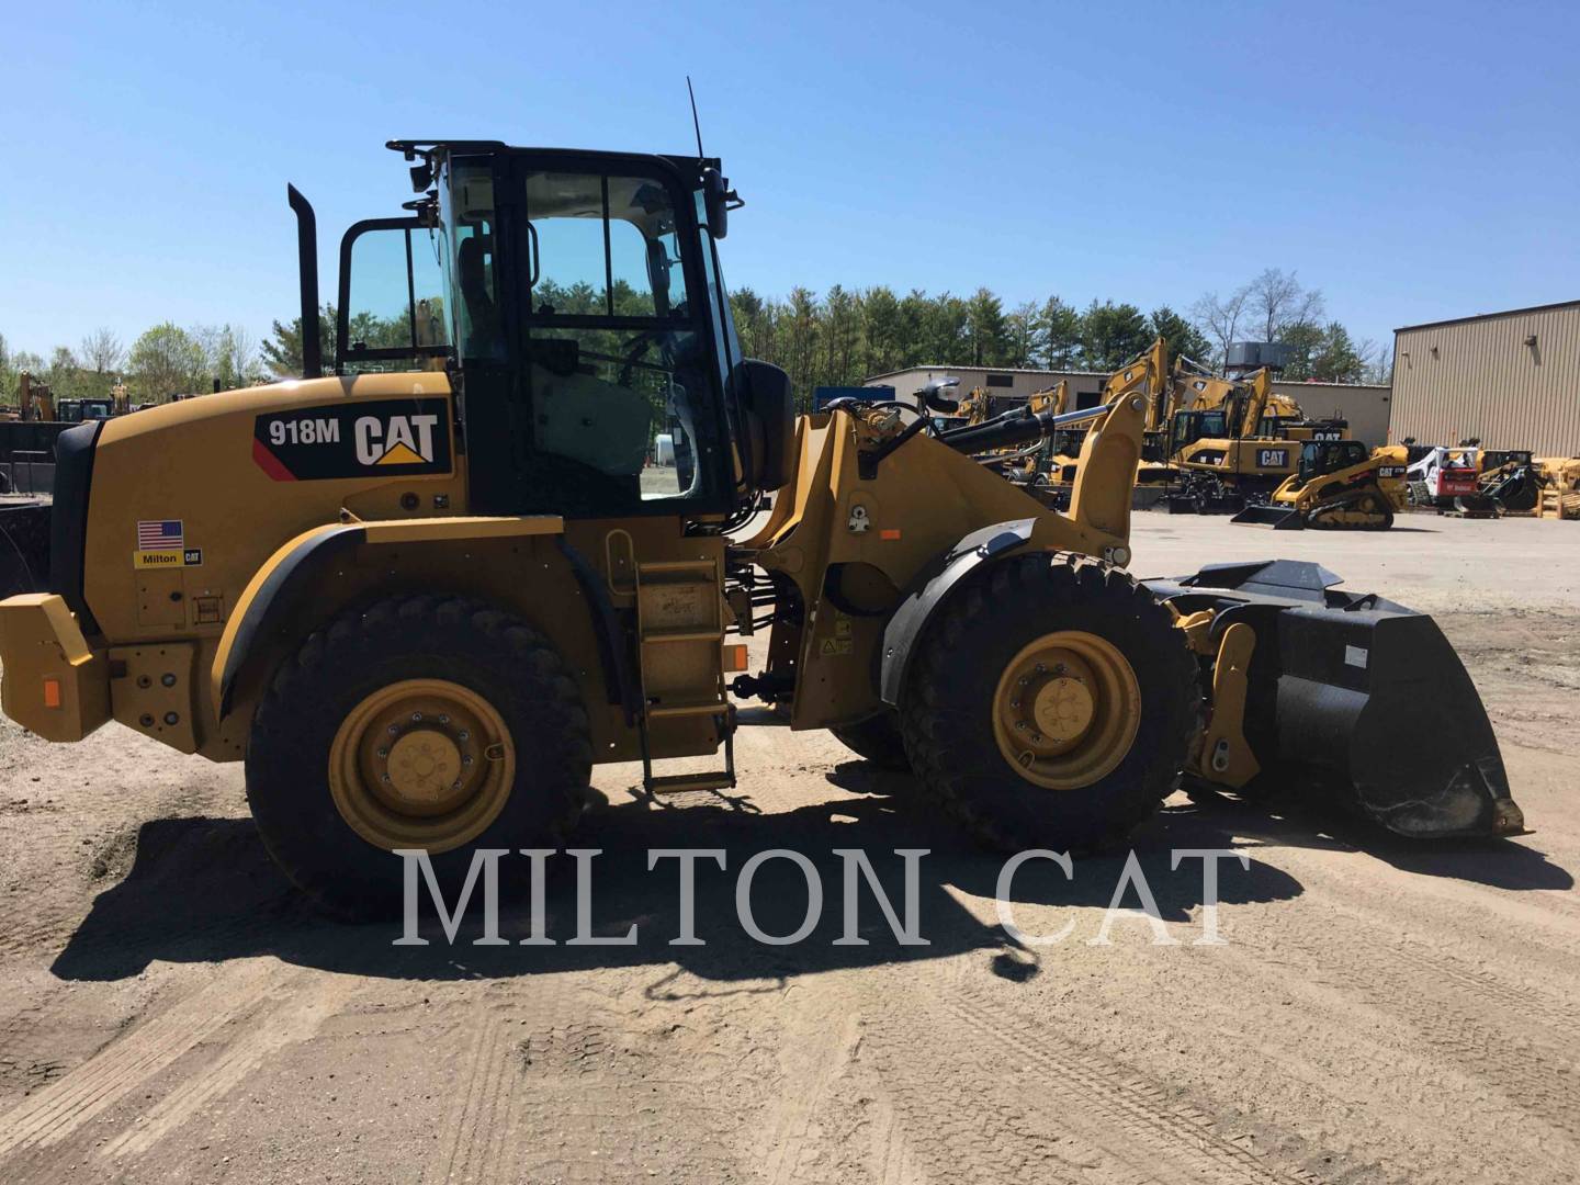
[[[1390,434],[1580,457],[1580,300],[1395,330]]]

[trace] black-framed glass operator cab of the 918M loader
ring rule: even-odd
[[[714,242],[739,202],[716,160],[389,147],[420,196],[341,240],[335,373],[449,373],[474,514],[755,502],[790,446],[788,382],[741,359]]]

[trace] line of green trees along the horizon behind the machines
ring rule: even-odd
[[[562,294],[567,307],[577,294]],[[730,297],[741,348],[782,367],[803,401],[815,387],[858,386],[874,374],[918,365],[1027,367],[1036,370],[1114,370],[1164,337],[1176,354],[1221,368],[1231,341],[1277,341],[1291,349],[1283,378],[1321,382],[1389,382],[1390,349],[1356,341],[1343,324],[1326,318],[1322,294],[1300,284],[1294,272],[1270,267],[1240,288],[1207,292],[1183,313],[1169,305],[1092,300],[1076,308],[1057,295],[1014,307],[988,288],[970,295],[886,286],[818,295],[793,288],[763,297],[750,288]],[[624,310],[623,310],[624,311]],[[335,308],[319,316],[324,357],[335,356]],[[359,314],[354,341],[409,341],[404,316],[379,321]],[[16,390],[16,376],[32,371],[57,398],[103,397],[117,379],[133,401],[158,403],[177,393],[245,387],[302,373],[300,318],[270,325],[254,341],[237,325],[153,325],[130,348],[107,329],[88,333],[76,349],[57,346],[47,359],[11,352],[0,335],[0,392]]]

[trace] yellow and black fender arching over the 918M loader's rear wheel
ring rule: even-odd
[[[359,547],[389,544],[444,544],[455,540],[556,536],[581,591],[592,607],[592,630],[599,643],[604,683],[610,702],[630,711],[634,676],[626,662],[618,618],[608,592],[586,559],[564,540],[559,515],[520,518],[401,518],[387,521],[330,523],[303,531],[275,551],[253,575],[220,637],[210,668],[210,697],[216,720],[224,720],[239,687],[261,676],[283,646],[299,641],[300,621],[321,596],[325,574],[349,562]]]

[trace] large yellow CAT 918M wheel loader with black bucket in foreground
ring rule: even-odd
[[[1286,766],[1408,836],[1522,828],[1430,618],[1311,564],[1127,572],[1146,365],[1065,416],[796,420],[741,357],[717,160],[390,147],[417,196],[340,242],[330,374],[289,188],[303,378],[60,438],[46,586],[0,602],[13,720],[243,762],[269,852],[346,913],[398,902],[397,850],[453,888],[476,847],[556,845],[594,763],[733,785],[732,697],[1000,847],[1090,850],[1182,774]],[[972,460],[1078,422],[1068,514]],[[686,466],[648,463],[659,433]]]

